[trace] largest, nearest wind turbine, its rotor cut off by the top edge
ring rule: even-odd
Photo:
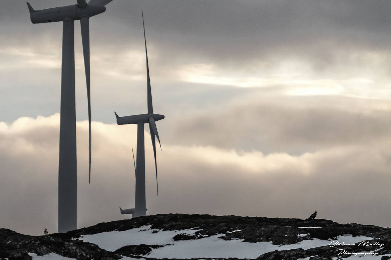
[[[29,3],[32,23],[63,22],[61,64],[60,145],[58,166],[58,232],[77,228],[76,110],[74,20],[80,20],[86,71],[89,136],[89,170],[91,177],[91,102],[90,102],[90,25],[89,18],[106,11],[111,0],[77,0],[75,5],[35,11]]]

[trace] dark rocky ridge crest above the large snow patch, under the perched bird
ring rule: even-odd
[[[334,239],[339,235],[353,236],[366,235],[381,239],[382,233],[389,233],[389,228],[380,228],[371,225],[339,224],[327,219],[289,219],[267,217],[241,216],[212,216],[187,214],[158,214],[136,217],[129,220],[99,223],[88,228],[81,228],[65,234],[52,234],[55,237],[71,239],[86,234],[96,234],[113,230],[124,231],[131,228],[151,225],[158,230],[186,230],[199,229],[195,238],[209,237],[217,234],[226,234],[224,240],[244,239],[245,242],[273,242],[276,245],[295,244],[304,239]],[[308,228],[308,227],[320,228]],[[307,228],[306,228],[307,227]],[[233,232],[235,230],[240,230]],[[231,233],[230,233],[231,232]],[[308,234],[308,237],[298,237],[299,234]]]

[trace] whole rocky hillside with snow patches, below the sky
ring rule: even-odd
[[[43,236],[0,229],[0,259],[72,258],[386,260],[391,229],[326,219],[198,214],[158,214]]]

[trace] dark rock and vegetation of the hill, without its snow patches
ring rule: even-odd
[[[99,223],[87,228],[70,231],[67,233],[55,233],[46,236],[21,235],[11,230],[0,229],[0,259],[31,259],[27,253],[45,255],[57,253],[76,259],[118,259],[120,255],[134,258],[148,258],[148,253],[153,248],[165,245],[131,245],[108,252],[98,246],[77,240],[83,235],[96,234],[110,231],[125,231],[131,228],[151,226],[156,230],[197,230],[194,235],[179,233],[172,239],[192,240],[222,234],[219,238],[224,240],[242,239],[245,242],[272,242],[275,245],[296,244],[303,240],[321,239],[336,240],[339,235],[350,234],[353,236],[373,237],[372,243],[384,244],[378,255],[391,254],[391,229],[371,225],[339,224],[326,219],[289,219],[266,217],[241,217],[241,216],[212,216],[212,215],[186,215],[186,214],[158,214],[136,217],[129,220],[111,221]],[[320,228],[310,228],[320,227]],[[156,232],[156,231],[154,231]],[[73,239],[73,238],[76,238]],[[8,242],[7,242],[8,241]],[[310,257],[310,260],[332,259],[336,256],[335,247],[321,246],[307,250],[296,248],[265,253],[257,260],[286,259]],[[344,249],[350,249],[345,246]],[[356,252],[379,249],[378,246],[351,248]],[[18,258],[20,257],[20,258]],[[369,256],[370,257],[370,256]],[[344,257],[346,258],[346,257]],[[383,256],[382,260],[391,257]],[[148,258],[152,259],[152,258]],[[206,259],[206,258],[203,258]],[[233,259],[233,258],[231,258]]]

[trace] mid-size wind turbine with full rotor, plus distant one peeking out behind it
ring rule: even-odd
[[[148,67],[148,54],[147,54],[147,40],[145,39],[145,27],[144,27],[144,15],[143,17],[143,29],[144,29],[144,43],[145,43],[145,59],[147,61],[147,114],[140,114],[134,116],[118,116],[116,112],[118,125],[137,124],[137,153],[136,153],[136,194],[135,194],[135,208],[129,208],[123,210],[120,207],[121,214],[132,214],[132,217],[145,216],[145,150],[144,150],[144,124],[149,124],[149,132],[151,134],[153,155],[155,157],[155,170],[156,170],[156,190],[158,191],[158,167],[156,165],[156,140],[155,135],[158,138],[159,145],[160,139],[158,135],[158,129],[156,128],[155,121],[164,118],[163,115],[154,114],[152,109],[152,94],[151,94],[151,82],[149,81],[149,67]],[[160,145],[161,149],[161,145]],[[133,151],[133,148],[132,148]],[[135,156],[133,155],[133,162]]]

